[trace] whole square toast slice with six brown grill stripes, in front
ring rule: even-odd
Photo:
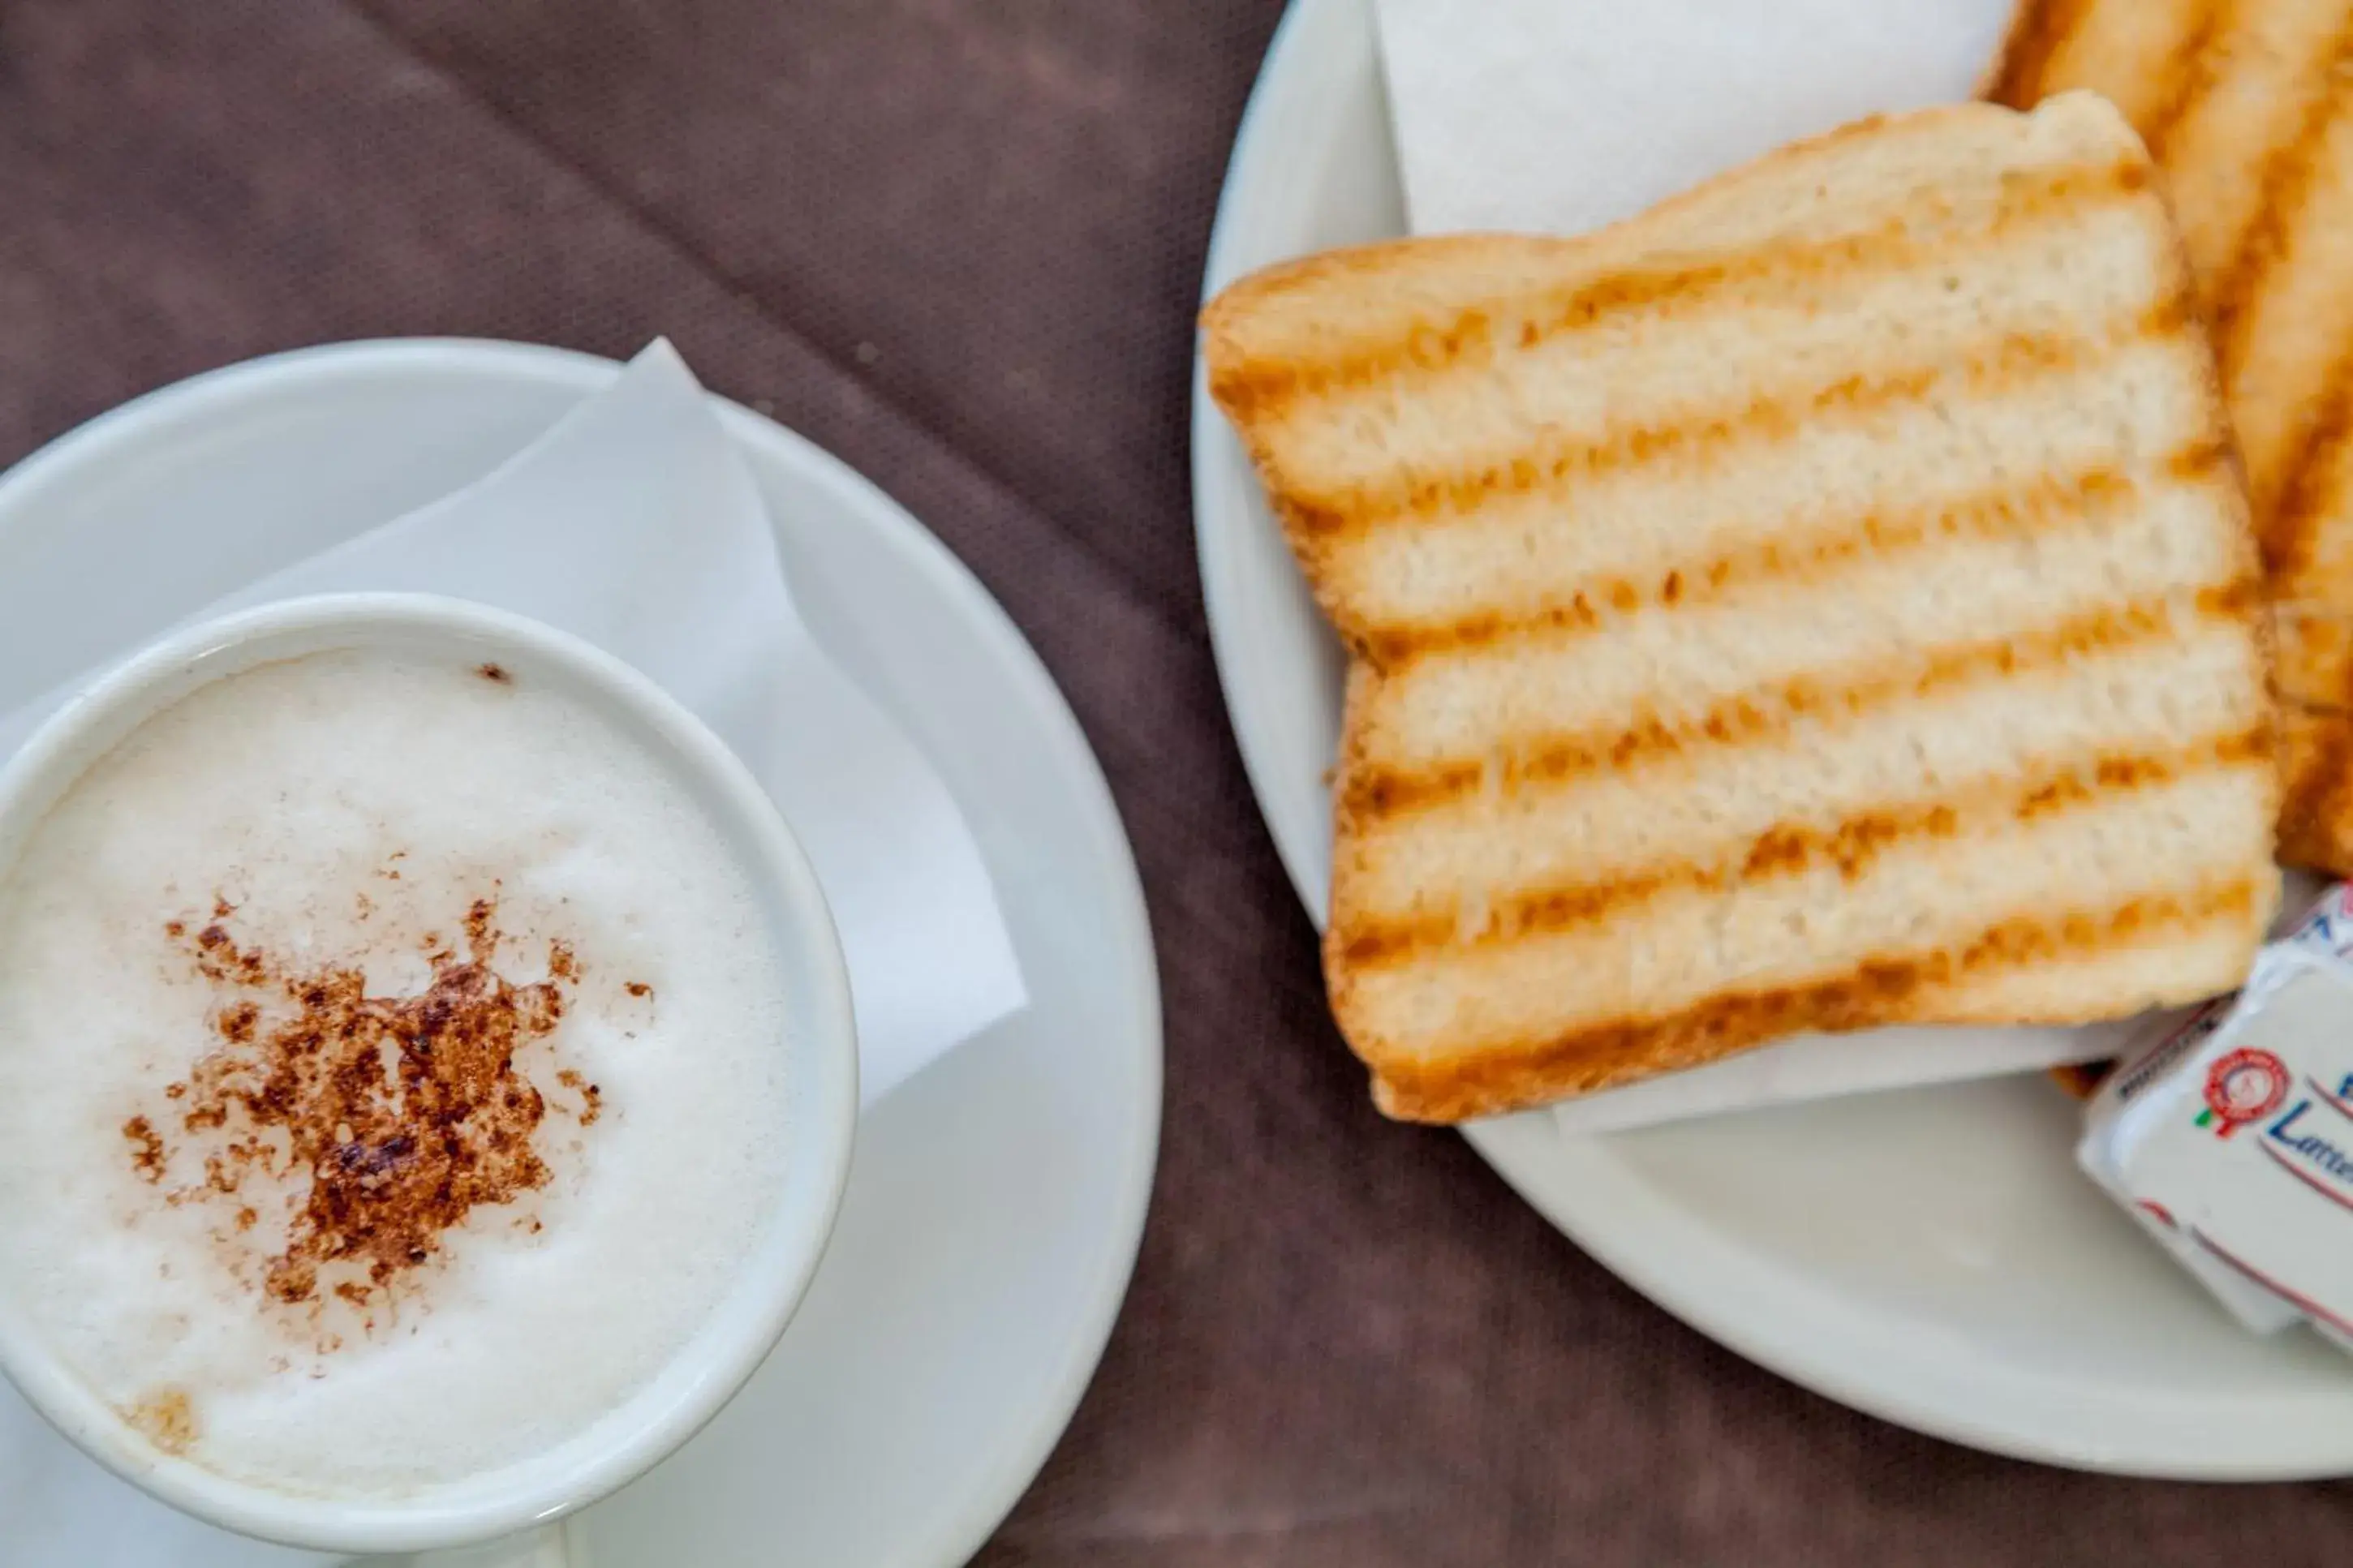
[[[1202,327],[1351,649],[1325,969],[1386,1112],[2245,978],[2257,552],[2099,99],[1318,256]]]

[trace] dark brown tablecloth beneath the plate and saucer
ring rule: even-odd
[[[1193,574],[1191,310],[1278,9],[0,0],[0,458],[296,343],[668,334],[979,569],[1111,771],[1169,1053],[1134,1293],[991,1568],[2353,1561],[2346,1486],[1788,1387],[1372,1112]]]

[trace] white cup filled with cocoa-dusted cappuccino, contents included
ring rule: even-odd
[[[0,1373],[205,1521],[426,1552],[642,1474],[798,1307],[854,1117],[791,830],[546,625],[228,616],[0,766]]]

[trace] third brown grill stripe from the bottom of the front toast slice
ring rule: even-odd
[[[1699,748],[1755,745],[1786,736],[1800,722],[1838,724],[1925,698],[1944,686],[2005,682],[2089,654],[2174,642],[2188,635],[2186,621],[2242,621],[2259,599],[2261,585],[2240,581],[2191,595],[2188,616],[2172,597],[2104,604],[2033,632],[1934,649],[1913,668],[1873,665],[1800,675],[1732,696],[1692,719],[1652,715],[1617,729],[1499,738],[1499,745],[1508,748],[1501,757],[1447,757],[1414,766],[1358,764],[1344,773],[1341,811],[1372,820],[1478,790],[1518,790],[1605,769],[1624,771]]]

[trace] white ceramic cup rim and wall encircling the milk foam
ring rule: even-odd
[[[666,757],[741,860],[786,966],[793,1138],[776,1213],[718,1309],[642,1389],[586,1429],[496,1474],[405,1497],[318,1497],[226,1479],[134,1432],[59,1363],[12,1307],[0,1260],[0,1373],[122,1479],[216,1526],[322,1552],[428,1552],[548,1526],[642,1474],[727,1403],[784,1333],[816,1269],[849,1171],[856,1037],[824,893],[767,792],[718,736],[645,675],[522,616],[428,595],[325,595],[181,630],[101,677],[0,766],[0,875],[28,830],[148,717],[264,663],[334,649],[456,651],[560,682]],[[562,1561],[560,1533],[513,1561]],[[468,1556],[468,1561],[487,1561]]]

